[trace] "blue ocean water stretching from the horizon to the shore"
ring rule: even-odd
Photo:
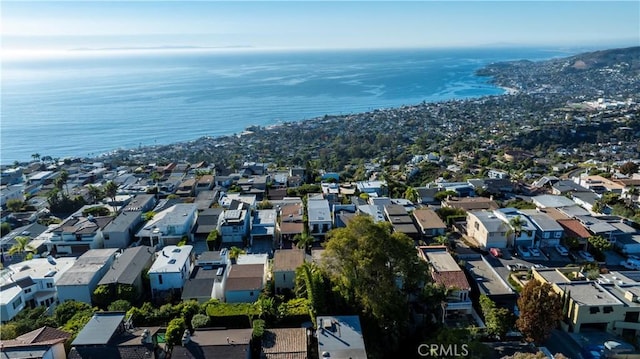
[[[3,164],[504,93],[474,75],[567,49],[121,51],[2,63]]]

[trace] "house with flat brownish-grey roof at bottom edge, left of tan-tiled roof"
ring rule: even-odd
[[[252,329],[198,329],[185,333],[182,345],[173,347],[173,358],[251,358]]]

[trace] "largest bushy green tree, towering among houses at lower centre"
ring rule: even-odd
[[[408,324],[408,295],[417,293],[426,275],[413,240],[364,215],[327,238],[322,265],[335,290],[388,332],[395,346]]]

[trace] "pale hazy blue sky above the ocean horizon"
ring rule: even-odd
[[[640,1],[2,1],[3,51],[640,44]]]

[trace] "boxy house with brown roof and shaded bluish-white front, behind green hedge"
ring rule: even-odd
[[[253,303],[266,283],[266,264],[234,264],[224,288],[227,303]]]

